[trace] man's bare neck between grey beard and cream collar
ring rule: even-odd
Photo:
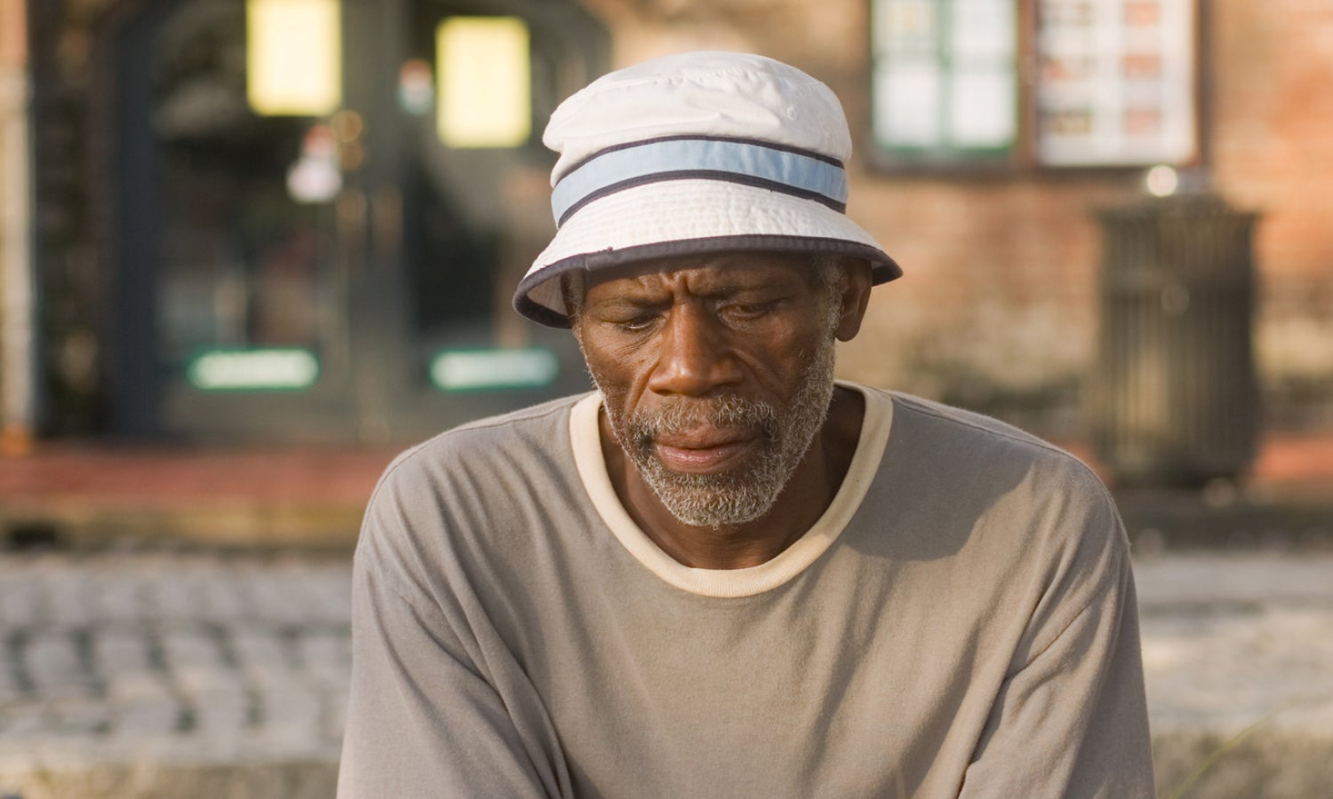
[[[605,411],[599,426],[612,486],[653,543],[694,569],[746,569],[780,555],[824,515],[852,463],[864,415],[864,397],[837,388],[824,426],[773,507],[752,522],[718,527],[697,527],[677,519],[616,443]]]

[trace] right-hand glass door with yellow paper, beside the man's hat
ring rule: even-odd
[[[387,182],[373,225],[401,224],[400,370],[391,426],[429,429],[584,390],[568,332],[509,306],[555,232],[541,127],[604,67],[605,36],[573,4],[392,0]],[[391,208],[380,204],[388,200]],[[401,213],[400,213],[401,210]],[[392,248],[381,248],[392,249]],[[392,260],[377,268],[393,270]]]

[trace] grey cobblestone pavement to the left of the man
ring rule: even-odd
[[[348,590],[345,559],[0,558],[0,774],[335,760]]]

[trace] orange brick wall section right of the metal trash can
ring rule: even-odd
[[[1333,396],[1333,4],[1213,3],[1213,173],[1261,212],[1260,368],[1278,413]],[[1302,414],[1304,411],[1304,414]]]

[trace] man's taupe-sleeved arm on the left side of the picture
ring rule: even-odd
[[[428,565],[423,541],[447,530],[413,537],[409,517],[381,486],[357,546],[339,798],[569,795],[541,703],[461,569]]]

